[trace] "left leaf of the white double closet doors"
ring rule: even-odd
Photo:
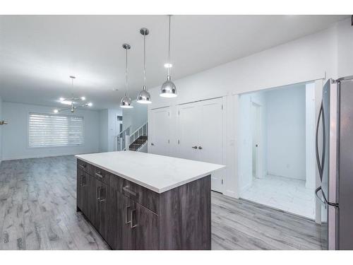
[[[199,160],[198,151],[198,125],[200,119],[198,102],[179,105],[178,132],[179,157]]]

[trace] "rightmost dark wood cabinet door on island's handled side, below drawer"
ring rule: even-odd
[[[148,208],[134,203],[131,211],[133,249],[158,249],[158,216]]]

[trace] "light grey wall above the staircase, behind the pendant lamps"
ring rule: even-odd
[[[130,132],[135,131],[147,122],[148,106],[133,100],[132,109],[123,109],[123,130],[131,126]]]

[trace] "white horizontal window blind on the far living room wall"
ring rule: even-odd
[[[84,142],[83,117],[30,113],[29,146],[75,146]]]

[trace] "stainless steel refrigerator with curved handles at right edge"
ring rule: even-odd
[[[316,160],[323,249],[353,249],[353,76],[325,83]]]

